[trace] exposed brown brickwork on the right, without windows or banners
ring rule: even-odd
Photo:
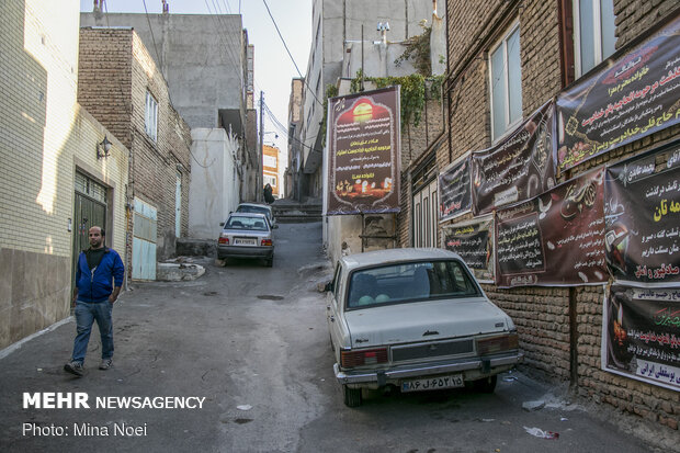
[[[519,23],[522,112],[526,117],[563,89],[562,2],[449,1],[449,71],[444,83],[449,106],[449,143],[440,149],[439,169],[457,157],[491,145],[488,54],[510,26]],[[614,0],[616,49],[625,49],[680,5],[677,1]],[[565,10],[570,11],[565,1]],[[599,156],[565,172],[563,182],[608,161],[617,161],[680,137],[670,127]],[[461,222],[469,218],[456,218]],[[569,382],[579,395],[677,430],[680,394],[601,369],[602,287],[523,287],[484,285],[488,296],[515,321],[528,370]]]

